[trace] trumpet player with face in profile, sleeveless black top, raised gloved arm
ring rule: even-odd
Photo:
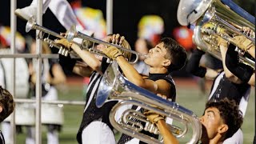
[[[178,45],[178,42],[174,41],[174,39],[162,38],[158,45],[149,50],[148,56],[144,60],[150,66],[149,77],[142,77],[141,74],[138,74],[138,71],[126,61],[122,52],[116,47],[110,46],[104,49],[103,53],[118,62],[122,72],[130,82],[150,90],[154,94],[164,94],[166,98],[171,98],[175,101],[176,88],[170,72],[180,70],[185,65],[186,50]],[[158,138],[158,135],[152,136]],[[118,143],[138,142],[137,138],[132,138],[126,134],[122,134],[118,141]]]

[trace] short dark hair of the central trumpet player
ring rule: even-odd
[[[186,64],[186,50],[178,44],[173,38],[162,38],[162,43],[167,50],[166,59],[170,59],[171,64],[168,71],[180,70]]]

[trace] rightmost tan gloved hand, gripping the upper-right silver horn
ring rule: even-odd
[[[237,44],[237,46],[242,50],[249,50],[252,46],[254,46],[253,42],[250,39],[246,38],[243,35],[234,36],[233,42]]]

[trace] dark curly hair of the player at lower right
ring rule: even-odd
[[[224,139],[230,138],[242,126],[242,111],[234,100],[223,98],[218,102],[209,101],[206,103],[206,109],[215,107],[220,112],[221,118],[229,126]]]

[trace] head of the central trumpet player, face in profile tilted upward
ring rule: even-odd
[[[154,73],[154,70],[166,73],[180,70],[186,63],[186,50],[174,39],[163,38],[157,46],[149,50],[144,62],[150,66],[150,73]]]

